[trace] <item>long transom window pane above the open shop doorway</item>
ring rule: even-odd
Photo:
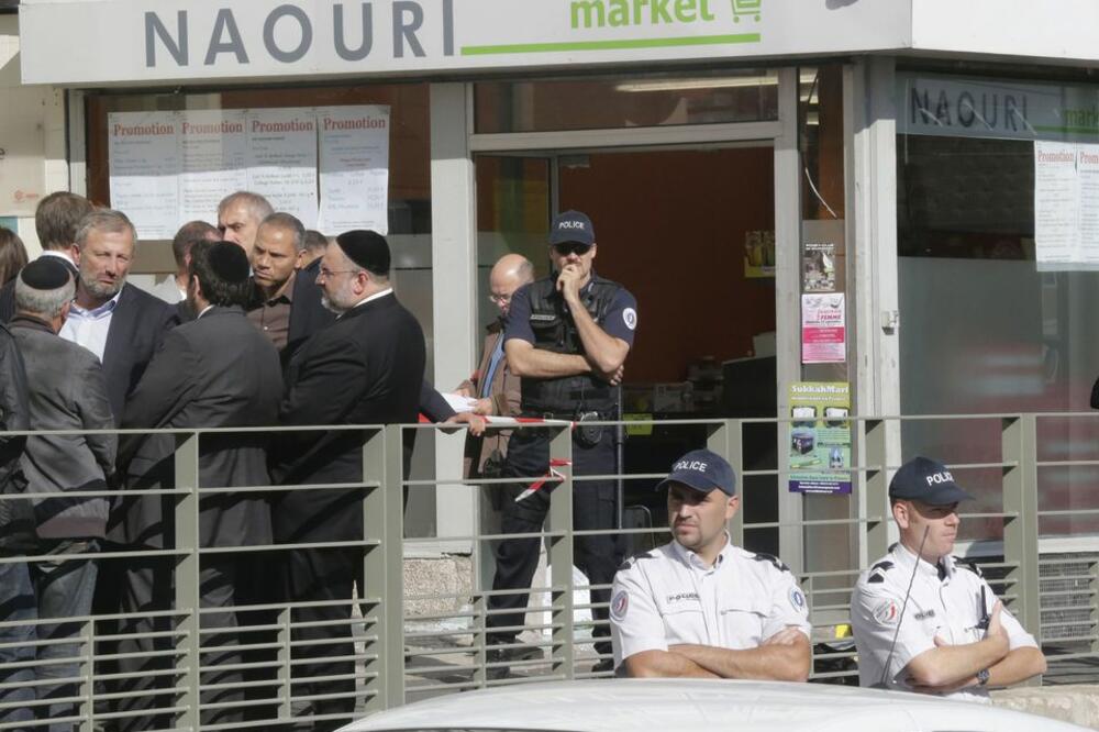
[[[775,71],[693,76],[484,81],[476,131],[551,132],[778,119]]]

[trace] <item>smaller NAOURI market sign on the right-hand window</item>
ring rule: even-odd
[[[900,134],[1099,140],[1099,87],[898,74],[897,99]]]

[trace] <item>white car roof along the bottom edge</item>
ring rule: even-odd
[[[454,694],[354,722],[342,732],[1068,732],[1085,728],[973,701],[823,684],[602,679]]]

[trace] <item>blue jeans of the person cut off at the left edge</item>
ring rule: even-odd
[[[21,685],[0,690],[0,722],[33,722],[34,669],[9,668],[9,664],[34,661],[34,620],[37,610],[26,564],[0,564],[0,623],[23,622],[0,628],[0,684]]]

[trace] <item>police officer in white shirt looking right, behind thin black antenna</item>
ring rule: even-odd
[[[951,556],[958,502],[972,498],[926,457],[909,461],[890,481],[900,543],[851,596],[862,686],[987,701],[987,687],[1045,672],[1034,637],[978,569]]]

